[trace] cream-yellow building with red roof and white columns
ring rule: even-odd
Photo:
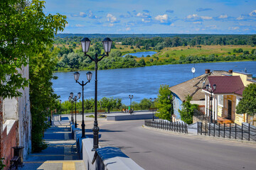
[[[256,81],[252,74],[247,73],[233,72],[232,75],[209,76],[202,89],[205,93],[206,115],[220,123],[224,121],[241,125],[242,122],[252,122],[253,118],[248,118],[246,114],[236,114],[235,108],[242,98],[242,91],[250,83]]]

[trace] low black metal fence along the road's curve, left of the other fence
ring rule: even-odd
[[[168,120],[145,120],[144,125],[161,130],[188,133],[188,125],[186,123],[171,123]]]

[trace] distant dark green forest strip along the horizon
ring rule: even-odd
[[[256,35],[217,35],[217,34],[58,34],[56,44],[80,43],[83,37],[100,42],[109,37],[122,45],[156,47],[195,46],[195,45],[256,45]]]

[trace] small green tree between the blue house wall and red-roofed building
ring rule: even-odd
[[[197,104],[191,104],[192,97],[191,96],[186,96],[186,101],[184,101],[181,106],[182,110],[178,109],[178,112],[181,114],[181,120],[183,120],[187,124],[193,123],[193,112],[194,109],[198,108]]]

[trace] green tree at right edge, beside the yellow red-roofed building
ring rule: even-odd
[[[255,115],[256,113],[256,84],[249,84],[242,91],[242,99],[236,107],[238,114],[247,113]]]

